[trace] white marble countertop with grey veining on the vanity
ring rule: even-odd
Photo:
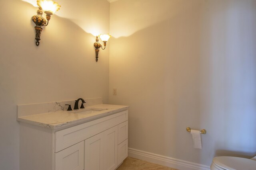
[[[41,127],[47,127],[50,129],[57,129],[69,125],[75,125],[77,123],[84,123],[100,117],[105,117],[120,111],[127,110],[129,106],[98,104],[94,106],[88,106],[84,109],[72,110],[72,111],[55,111],[49,113],[41,113],[36,115],[28,115],[17,117],[17,121],[38,125]],[[95,113],[81,114],[80,112],[90,109],[102,109]]]

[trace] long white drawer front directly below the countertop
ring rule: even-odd
[[[55,132],[54,152],[84,141],[128,120],[128,110]]]

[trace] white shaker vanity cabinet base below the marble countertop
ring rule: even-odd
[[[67,128],[20,123],[20,170],[115,170],[128,156],[128,110]]]

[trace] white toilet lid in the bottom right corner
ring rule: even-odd
[[[217,156],[214,164],[226,170],[256,170],[256,161],[233,156]]]

